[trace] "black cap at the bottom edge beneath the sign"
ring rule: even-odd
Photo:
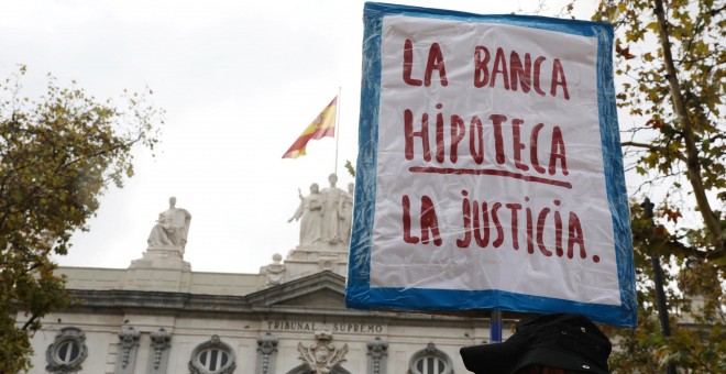
[[[476,374],[609,374],[607,337],[585,316],[556,314],[517,323],[504,343],[464,346],[461,358]]]

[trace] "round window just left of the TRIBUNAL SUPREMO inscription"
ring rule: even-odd
[[[191,374],[231,374],[235,369],[232,346],[212,336],[191,352],[189,370]]]

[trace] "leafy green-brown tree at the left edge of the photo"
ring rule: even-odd
[[[24,98],[24,74],[0,82],[0,373],[30,369],[41,318],[72,302],[51,254],[88,230],[102,193],[133,175],[132,148],[153,151],[162,123],[147,95],[128,94],[118,109],[52,76],[37,101]]]

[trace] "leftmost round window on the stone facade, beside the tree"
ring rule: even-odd
[[[55,334],[53,344],[45,351],[51,373],[76,373],[82,367],[80,364],[88,356],[86,334],[78,328],[66,327]]]

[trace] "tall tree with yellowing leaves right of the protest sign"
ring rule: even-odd
[[[654,222],[631,206],[639,324],[612,331],[616,372],[726,372],[725,11],[723,0],[602,1],[593,16],[616,29],[618,107],[635,123],[623,145],[639,196],[666,191]],[[653,257],[666,264],[669,338],[654,311]]]

